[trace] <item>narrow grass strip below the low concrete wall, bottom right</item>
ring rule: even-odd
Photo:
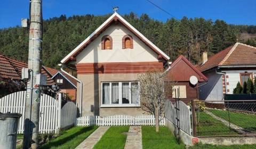
[[[256,148],[256,144],[249,145],[210,145],[210,144],[197,144],[194,146],[190,146],[188,149],[253,149]]]

